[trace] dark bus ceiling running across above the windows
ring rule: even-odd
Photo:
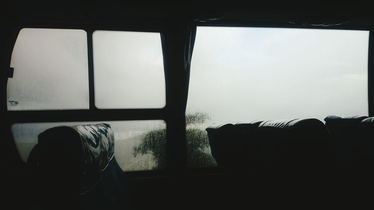
[[[135,1],[134,1],[135,2]],[[233,3],[168,4],[154,1],[15,1],[7,18],[19,22],[63,24],[163,24],[195,21],[198,25],[339,25],[369,28],[374,24],[373,6],[287,6]],[[216,19],[216,20],[213,20]],[[343,26],[341,25],[341,27]]]

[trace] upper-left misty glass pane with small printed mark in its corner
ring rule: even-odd
[[[8,110],[89,108],[86,31],[24,28],[10,67]]]

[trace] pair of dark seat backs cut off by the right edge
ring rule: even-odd
[[[370,169],[374,159],[374,117],[329,115],[325,122],[338,170]]]

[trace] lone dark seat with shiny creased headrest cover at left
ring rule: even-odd
[[[59,126],[38,136],[28,164],[41,206],[132,208],[132,189],[114,157],[109,124]],[[57,206],[56,206],[57,205]]]

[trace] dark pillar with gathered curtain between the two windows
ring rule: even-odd
[[[186,175],[185,111],[190,80],[190,65],[196,37],[192,22],[170,22],[161,31],[166,81],[167,160],[173,177]],[[175,186],[177,187],[177,186]],[[178,186],[182,187],[182,186]],[[178,190],[177,188],[174,190]],[[179,197],[174,197],[180,199]],[[174,199],[173,198],[173,199]]]

